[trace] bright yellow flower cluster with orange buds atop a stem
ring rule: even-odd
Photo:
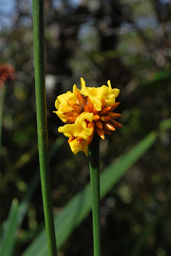
[[[73,92],[57,97],[57,111],[54,113],[66,123],[58,131],[69,138],[68,143],[73,153],[84,151],[87,156],[87,148],[95,132],[104,140],[105,134],[110,135],[115,127],[123,125],[115,121],[121,114],[112,112],[120,104],[115,103],[119,89],[112,89],[110,80],[107,82],[108,86],[98,88],[86,87],[83,78],[80,81],[81,90],[74,84]]]

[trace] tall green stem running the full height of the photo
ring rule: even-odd
[[[56,256],[56,234],[54,228],[54,215],[52,211],[52,196],[48,161],[43,9],[43,0],[33,0],[34,74],[41,190],[43,197],[43,210],[45,214],[48,253],[50,256]]]

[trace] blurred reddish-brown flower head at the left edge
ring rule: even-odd
[[[7,79],[15,80],[15,68],[9,64],[0,65],[0,88],[4,86]]]

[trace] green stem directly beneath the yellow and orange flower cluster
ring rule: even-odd
[[[97,134],[89,145],[89,168],[92,192],[94,256],[100,256],[100,148]]]

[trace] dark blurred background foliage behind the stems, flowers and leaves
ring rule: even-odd
[[[151,131],[171,111],[171,1],[45,0],[45,74],[48,145],[54,213],[89,182],[87,157],[76,156],[54,102],[61,93],[102,86],[121,90],[116,112],[123,128],[101,140],[101,171]],[[38,170],[31,1],[0,0],[1,63],[15,67],[5,84],[1,145],[1,234],[13,198],[32,191],[16,233],[13,255],[22,255],[43,228]],[[1,90],[1,88],[0,88]],[[54,145],[57,145],[54,147]],[[163,129],[144,156],[101,200],[102,256],[171,253],[170,130]],[[30,184],[31,180],[33,182]],[[91,198],[90,198],[91,200]],[[144,231],[145,230],[145,231]],[[61,247],[59,256],[93,255],[88,214]],[[6,255],[4,255],[6,256]]]

